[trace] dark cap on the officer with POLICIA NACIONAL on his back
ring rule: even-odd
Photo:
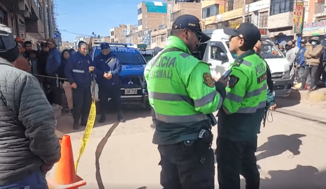
[[[206,34],[204,34],[200,28],[199,19],[196,16],[185,14],[177,17],[172,24],[172,30],[174,29],[189,29],[199,35],[202,39],[200,42],[206,42],[210,40]]]

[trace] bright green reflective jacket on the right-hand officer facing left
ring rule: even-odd
[[[266,106],[267,64],[253,50],[244,53],[230,65],[235,78],[233,87],[227,87],[223,102],[227,113],[255,113]]]

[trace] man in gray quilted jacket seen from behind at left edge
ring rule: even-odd
[[[61,156],[57,121],[38,80],[13,67],[18,55],[0,25],[0,188],[48,188],[45,174]]]

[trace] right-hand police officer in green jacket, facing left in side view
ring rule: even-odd
[[[225,28],[230,35],[229,49],[236,55],[227,96],[218,116],[216,161],[220,189],[239,189],[240,177],[246,188],[259,188],[255,152],[257,134],[264,117],[267,93],[267,65],[253,50],[260,32],[252,23],[241,23],[237,29]]]

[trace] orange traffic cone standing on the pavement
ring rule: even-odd
[[[47,180],[54,189],[77,189],[86,185],[86,181],[76,175],[72,147],[69,135],[64,135],[61,141],[61,158],[55,173],[55,178]]]

